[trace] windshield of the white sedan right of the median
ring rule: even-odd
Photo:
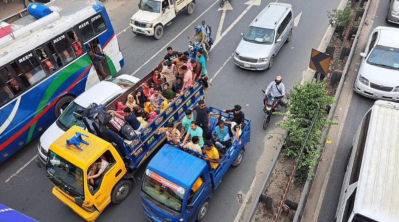
[[[376,45],[367,63],[375,66],[399,69],[399,49]]]

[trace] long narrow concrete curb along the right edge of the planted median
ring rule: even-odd
[[[352,64],[352,59],[353,59],[353,56],[354,56],[354,54],[355,54],[355,50],[356,50],[356,47],[357,47],[357,43],[358,43],[358,40],[359,40],[359,36],[360,36],[360,34],[361,34],[361,32],[362,32],[362,29],[363,29],[363,26],[364,26],[364,23],[365,23],[365,20],[366,20],[366,17],[367,17],[367,12],[369,11],[369,7],[370,7],[371,1],[372,1],[372,0],[368,0],[368,1],[367,1],[367,5],[366,5],[366,7],[365,7],[365,12],[363,13],[362,19],[361,19],[361,21],[360,21],[358,31],[357,31],[357,33],[356,33],[355,39],[354,39],[353,44],[352,44],[352,47],[351,47],[351,52],[349,53],[347,63],[345,64],[345,67],[344,67],[344,70],[343,70],[343,73],[342,73],[342,77],[341,77],[341,79],[340,79],[340,83],[339,83],[338,88],[337,88],[337,91],[336,91],[336,93],[335,93],[335,101],[337,101],[337,103],[339,102],[339,98],[340,98],[340,96],[341,96],[342,89],[344,88],[345,79],[346,79],[346,74],[348,73],[349,67],[350,67],[351,64]],[[329,115],[328,115],[328,119],[329,119],[329,120],[333,120],[333,117],[334,117],[334,113],[335,113],[335,111],[336,111],[336,108],[337,108],[336,104],[334,104],[334,105],[331,107],[330,113],[329,113]],[[329,130],[330,130],[330,126],[325,127],[325,128],[323,129],[323,134],[326,134],[326,135],[327,135],[328,132],[329,132]],[[322,144],[325,144],[325,139],[324,139],[324,138],[322,138],[321,141],[322,141]],[[321,153],[321,152],[322,152],[322,149],[319,148],[319,149],[317,150],[317,152]],[[318,163],[319,163],[319,160],[318,160],[318,159],[316,159],[316,161],[318,161]],[[318,163],[313,167],[313,173],[316,173],[317,167],[318,167],[318,165],[319,165]],[[313,177],[312,177],[312,178],[313,178]],[[299,204],[298,204],[298,209],[299,209],[299,210],[297,209],[297,211],[296,211],[296,213],[295,213],[295,217],[294,217],[293,222],[300,222],[300,221],[301,221],[300,216],[302,215],[303,210],[304,210],[304,208],[305,208],[305,206],[306,206],[306,201],[307,201],[307,198],[308,198],[310,189],[311,189],[311,187],[312,187],[312,183],[313,183],[313,179],[307,179],[307,180],[306,180],[306,183],[305,183],[305,186],[304,186],[304,188],[303,188],[302,195],[301,195],[301,199],[300,199]]]

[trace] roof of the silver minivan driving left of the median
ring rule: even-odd
[[[291,8],[291,4],[271,2],[259,13],[251,26],[274,28],[277,25],[277,21],[289,8]],[[265,13],[266,11],[267,13]]]

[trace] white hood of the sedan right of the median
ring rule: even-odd
[[[374,66],[365,61],[362,73],[359,72],[359,74],[368,79],[370,83],[394,88],[399,86],[399,70],[396,69]]]

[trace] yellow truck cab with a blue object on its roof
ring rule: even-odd
[[[67,140],[79,135],[86,144],[68,144]],[[52,193],[87,221],[94,220],[111,201],[122,202],[132,188],[132,182],[123,178],[127,170],[115,147],[78,126],[72,126],[50,145],[47,158],[47,176],[55,186]],[[109,165],[95,187],[86,178],[98,158]]]

